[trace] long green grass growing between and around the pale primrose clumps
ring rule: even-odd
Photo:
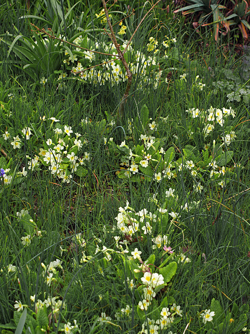
[[[17,5],[16,10],[10,11],[7,5],[1,10],[1,15],[9,11],[12,14],[11,22],[1,18],[4,22],[0,31],[2,38],[6,38],[5,30],[14,33],[10,30],[13,29],[11,23],[17,25],[18,11],[23,9],[20,3]],[[86,8],[83,3],[81,6],[74,12],[75,25],[80,12],[85,9],[89,13],[87,29],[96,29],[98,22],[94,21],[94,14],[99,13],[100,8]],[[120,6],[125,11],[123,5]],[[61,64],[60,69],[68,73],[65,87],[58,88],[57,73],[43,73],[50,79],[42,85],[39,76],[32,78],[21,66],[15,68],[14,64],[20,64],[20,59],[14,52],[7,58],[9,47],[3,42],[0,44],[3,55],[0,64],[0,168],[9,168],[6,175],[12,176],[9,183],[1,177],[0,185],[0,324],[5,325],[0,325],[2,333],[6,333],[4,328],[14,332],[18,322],[21,324],[19,317],[23,310],[16,312],[16,301],[28,309],[24,328],[28,332],[29,326],[32,333],[40,333],[41,329],[46,332],[76,332],[79,329],[82,333],[146,333],[150,329],[158,333],[228,334],[250,330],[247,309],[250,298],[249,255],[247,257],[250,250],[249,103],[242,100],[228,102],[228,92],[215,92],[212,85],[212,82],[216,86],[218,80],[226,79],[222,67],[232,69],[237,75],[240,60],[233,50],[225,59],[209,34],[203,36],[204,44],[209,42],[209,50],[199,49],[202,39],[194,44],[188,28],[164,13],[155,11],[143,23],[144,35],[138,33],[133,42],[135,53],[147,54],[146,44],[150,36],[157,38],[160,45],[165,35],[169,39],[177,38],[177,27],[185,34],[176,43],[171,42],[169,48],[160,50],[160,84],[154,87],[157,66],[150,73],[137,71],[134,74],[119,128],[115,127],[115,115],[125,82],[100,85],[91,81],[80,82],[75,77],[69,80],[69,68]],[[44,10],[41,15],[48,17],[48,14]],[[138,18],[144,14],[142,7],[136,8],[135,23],[127,19],[129,30],[135,28]],[[57,16],[53,15],[55,20]],[[115,19],[118,20],[119,15],[114,13]],[[163,19],[166,23],[162,23]],[[19,32],[31,38],[27,25],[21,22]],[[38,23],[39,20],[35,22]],[[75,33],[72,24],[68,34],[74,36]],[[91,36],[90,32],[88,37],[91,39]],[[107,43],[108,38],[103,39]],[[64,57],[64,51],[61,57]],[[141,69],[142,65],[139,66]],[[100,68],[100,71],[104,75],[104,69]],[[169,72],[171,76],[165,82]],[[184,73],[187,74],[186,81],[180,79]],[[151,81],[143,81],[146,75]],[[199,78],[195,79],[196,76]],[[203,90],[197,88],[198,82],[205,84]],[[210,106],[221,110],[232,107],[235,117],[224,116],[223,126],[214,121],[215,128],[205,136]],[[191,117],[187,112],[191,108],[198,108],[201,116]],[[59,121],[53,121],[51,117]],[[149,124],[153,121],[157,124],[156,130],[150,129]],[[53,130],[59,127],[64,131],[64,125],[70,126],[72,133],[56,137]],[[31,130],[30,139],[25,139],[21,132],[26,127]],[[4,140],[2,134],[6,131],[10,138]],[[235,131],[236,137],[227,146],[221,137],[231,131]],[[77,137],[76,133],[81,134],[82,146],[78,150],[71,140]],[[14,149],[11,142],[17,135],[21,147]],[[149,140],[145,139],[143,144],[141,135],[155,137],[155,150],[149,145],[146,148]],[[108,141],[110,137],[112,142]],[[64,153],[61,168],[67,177],[72,175],[68,183],[52,174],[39,155],[40,149],[48,151],[46,142],[49,138],[54,145],[58,138],[66,141],[63,150],[67,153]],[[104,144],[104,138],[107,144]],[[152,155],[155,161],[148,160],[150,168],[138,169],[130,177],[122,176],[125,166],[120,162],[129,155],[129,149],[120,146],[124,140],[124,145],[132,150],[137,167],[146,159],[146,153]],[[137,145],[144,145],[146,153],[136,149]],[[173,173],[170,178],[162,177],[162,171],[167,167],[163,162],[167,159],[160,153],[160,148],[164,152],[172,150],[174,154],[169,160]],[[187,149],[192,152],[188,153]],[[89,159],[83,159],[82,165],[79,164],[81,169],[77,166],[74,172],[66,157],[71,152],[78,159],[84,158],[85,153],[90,154]],[[55,154],[53,152],[52,156]],[[36,155],[39,165],[33,170],[28,169]],[[189,160],[194,163],[191,169],[185,165]],[[218,174],[210,174],[212,163],[218,165],[214,168]],[[131,165],[132,159],[128,169]],[[21,174],[23,167],[26,175]],[[161,177],[157,182],[153,174],[158,172]],[[199,184],[203,187],[200,192],[196,191]],[[172,197],[166,195],[169,188],[175,189]],[[131,237],[121,232],[116,219],[122,211],[120,207],[127,205],[126,201],[131,212],[127,209],[123,218],[128,214],[138,223],[138,229]],[[166,212],[161,213],[159,208]],[[155,221],[151,221],[147,213],[139,219],[136,213],[143,209],[155,214]],[[17,213],[21,210],[27,212],[20,217]],[[175,218],[170,215],[172,212],[177,214]],[[152,227],[146,234],[143,232],[145,221],[150,221]],[[131,225],[130,220],[125,226]],[[23,244],[21,237],[28,234],[30,244]],[[153,247],[157,235],[167,235],[167,243],[162,243],[159,248]],[[124,252],[124,243],[120,244],[114,236],[119,236],[119,241],[130,240],[128,253]],[[164,251],[164,245],[170,246],[174,253]],[[141,252],[141,262],[131,254],[135,248]],[[181,254],[186,262],[180,261]],[[53,270],[48,269],[49,263],[56,259],[60,261],[59,265],[54,264]],[[147,259],[148,268],[139,267],[142,263],[146,265]],[[11,271],[9,265],[15,266],[15,270]],[[138,304],[143,299],[142,287],[146,286],[143,275],[149,269],[151,273],[162,274],[164,282],[158,291],[156,284],[157,293],[143,311]],[[133,277],[134,288],[130,289],[127,278],[130,282]],[[54,297],[51,313],[49,302],[51,304]],[[46,300],[43,308],[39,300]],[[174,321],[160,328],[156,319],[160,319],[164,307],[173,314],[173,303],[180,306],[182,316],[174,314]],[[130,315],[119,317],[118,311],[127,305],[131,309]],[[207,309],[215,315],[212,321],[203,323],[200,314]],[[100,320],[102,312],[110,318]],[[169,319],[170,315],[166,321]],[[70,331],[74,320],[78,328]],[[69,329],[64,327],[66,324]]]

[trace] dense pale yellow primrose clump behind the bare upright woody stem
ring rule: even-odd
[[[124,30],[124,27],[122,26],[121,29]],[[67,71],[70,70],[76,79],[99,83],[100,85],[111,83],[112,86],[127,80],[126,72],[118,59],[114,44],[93,43],[88,37],[85,39],[77,37],[73,43],[76,46],[72,50],[73,58],[68,52],[65,52],[63,62],[66,64]],[[89,51],[80,49],[83,45],[85,47],[87,45]],[[120,50],[125,50],[126,46],[126,42],[124,42],[121,44]],[[101,59],[100,55],[93,51],[108,53],[110,56],[108,59]],[[154,56],[146,56],[141,52],[134,53],[130,45],[127,47],[124,57],[127,61],[129,57],[129,68],[133,74],[141,74],[144,77],[148,77],[146,74],[149,74],[156,66],[156,58]],[[131,57],[132,61],[130,60]],[[96,67],[96,65],[98,66]],[[158,80],[156,80],[156,83],[158,83]]]

